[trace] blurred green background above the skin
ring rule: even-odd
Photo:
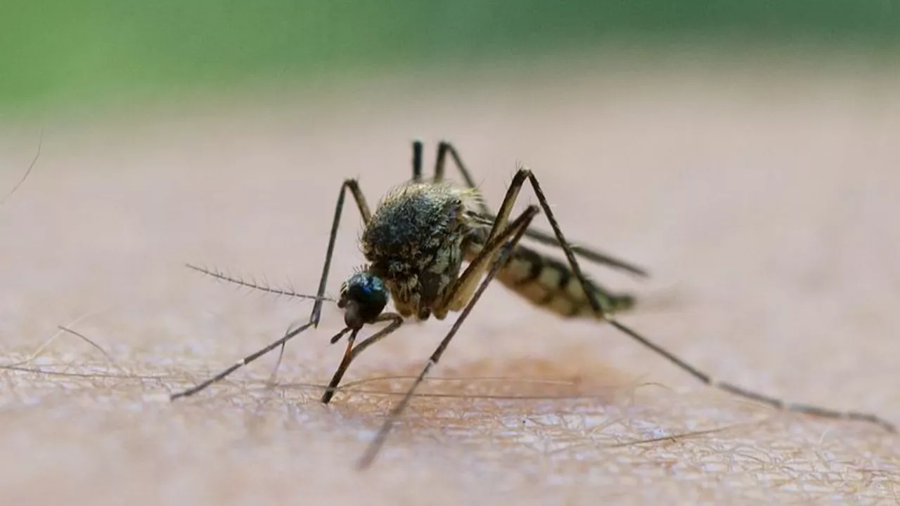
[[[597,50],[887,56],[894,0],[4,0],[0,111]],[[511,62],[511,63],[510,63]]]

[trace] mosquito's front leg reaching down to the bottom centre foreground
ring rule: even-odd
[[[375,435],[372,443],[365,449],[365,454],[363,454],[362,458],[359,460],[357,467],[359,469],[365,469],[374,461],[375,456],[378,454],[378,450],[383,446],[385,439],[388,436],[388,433],[391,431],[393,424],[400,418],[406,406],[410,403],[410,399],[412,399],[412,395],[416,392],[416,389],[419,388],[419,384],[425,379],[425,376],[428,375],[428,372],[431,371],[431,368],[437,366],[437,362],[440,361],[441,356],[444,355],[444,351],[447,346],[449,346],[450,341],[456,335],[456,332],[459,330],[460,326],[465,321],[466,317],[469,316],[469,313],[472,312],[473,307],[476,303],[478,303],[478,299],[481,298],[484,290],[491,284],[494,276],[497,276],[497,272],[500,270],[500,267],[506,262],[506,259],[509,257],[510,252],[516,248],[519,239],[522,239],[522,235],[525,233],[525,230],[528,228],[528,225],[534,219],[537,214],[538,209],[536,206],[528,206],[528,208],[522,212],[522,214],[509,224],[509,226],[503,230],[495,240],[490,241],[488,247],[482,250],[480,254],[480,258],[473,261],[473,265],[475,264],[483,264],[485,260],[489,258],[493,258],[493,263],[491,265],[490,271],[488,271],[487,276],[485,276],[482,284],[479,285],[478,289],[472,295],[472,298],[469,299],[468,303],[465,305],[463,312],[460,313],[459,317],[456,318],[456,321],[451,327],[450,331],[447,332],[444,339],[441,340],[440,344],[437,345],[435,351],[431,354],[431,357],[428,358],[428,363],[422,369],[422,372],[419,373],[419,376],[416,378],[415,382],[410,386],[410,390],[403,396],[401,402],[398,402],[392,410],[388,413],[387,418],[384,420],[384,423],[379,429],[378,433]],[[497,253],[500,253],[498,258],[494,258]],[[471,267],[471,266],[470,266]],[[466,270],[463,276],[481,276],[482,269],[476,268],[474,270]]]

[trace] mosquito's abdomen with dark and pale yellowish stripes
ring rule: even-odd
[[[478,239],[468,241],[465,251],[467,261],[472,261],[481,252],[482,244]],[[569,264],[527,246],[518,245],[513,250],[506,265],[500,267],[496,279],[531,303],[561,316],[596,317]],[[635,305],[635,298],[631,295],[611,294],[590,279],[588,285],[604,312],[626,311]]]

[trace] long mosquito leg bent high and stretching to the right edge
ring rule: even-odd
[[[525,167],[522,167],[518,170],[518,173],[515,177],[513,177],[513,182],[510,184],[521,185],[522,182],[527,179],[531,184],[532,188],[537,195],[537,200],[541,205],[541,208],[544,210],[547,221],[550,221],[550,226],[554,230],[554,235],[556,236],[556,240],[562,246],[563,251],[565,252],[566,259],[569,261],[569,266],[572,267],[572,273],[578,278],[579,283],[581,283],[581,289],[584,290],[584,293],[588,295],[588,301],[590,302],[591,309],[597,314],[599,318],[605,319],[608,321],[610,325],[615,327],[617,330],[624,332],[627,336],[635,339],[637,342],[644,345],[646,348],[652,349],[658,355],[665,357],[675,366],[679,366],[682,370],[687,372],[689,375],[694,376],[699,381],[719,390],[723,390],[728,393],[733,393],[734,395],[743,397],[745,399],[751,399],[753,401],[764,402],[769,404],[772,407],[775,407],[780,410],[786,411],[797,411],[810,415],[815,415],[823,418],[837,419],[837,420],[861,420],[861,421],[869,421],[871,423],[875,423],[881,426],[884,429],[887,429],[890,432],[896,432],[896,428],[893,424],[888,422],[887,420],[883,420],[874,414],[869,413],[859,413],[859,412],[842,412],[835,411],[828,408],[820,408],[816,406],[809,406],[806,404],[793,404],[781,401],[779,399],[770,397],[768,395],[764,395],[761,393],[755,393],[751,390],[744,389],[742,387],[734,386],[733,384],[728,383],[720,383],[715,381],[710,375],[703,373],[698,370],[697,367],[690,366],[687,362],[681,360],[679,357],[676,357],[671,352],[666,349],[660,347],[659,345],[651,342],[649,339],[644,338],[644,336],[635,332],[635,330],[631,330],[626,325],[619,323],[618,321],[609,317],[609,315],[603,312],[603,309],[597,300],[596,294],[594,294],[590,290],[589,283],[585,276],[581,273],[581,267],[578,265],[578,260],[575,258],[575,253],[572,250],[572,247],[569,245],[568,241],[566,241],[565,237],[563,237],[563,230],[560,229],[559,223],[556,221],[556,217],[554,216],[553,210],[550,208],[550,204],[547,203],[547,198],[544,194],[544,191],[541,189],[541,185],[538,184],[537,178],[530,170]]]

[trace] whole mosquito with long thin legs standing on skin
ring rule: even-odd
[[[446,182],[444,166],[447,156],[454,159],[455,166],[466,183],[464,187]],[[299,295],[315,300],[310,321],[287,332],[282,339],[266,348],[243,358],[219,375],[173,394],[173,400],[201,391],[238,367],[247,365],[275,348],[284,347],[287,340],[303,330],[318,326],[323,303],[329,300],[324,296],[325,287],[346,194],[349,192],[363,217],[364,230],[360,243],[368,263],[347,277],[341,285],[337,305],[344,311],[345,328],[331,339],[331,343],[337,343],[347,336],[347,349],[321,401],[330,402],[347,367],[365,348],[392,334],[401,327],[403,321],[410,318],[427,321],[432,316],[443,320],[450,312],[459,312],[453,326],[428,358],[410,389],[387,414],[381,429],[359,460],[359,468],[365,468],[374,461],[393,424],[409,404],[419,384],[432,367],[437,366],[483,291],[495,278],[531,303],[563,317],[587,317],[612,325],[704,384],[778,409],[832,419],[868,421],[891,432],[896,431],[891,423],[873,414],[788,403],[733,384],[715,381],[710,375],[690,366],[617,321],[614,314],[631,308],[634,298],[629,294],[613,294],[584,276],[576,257],[617,267],[638,276],[646,276],[644,269],[568,242],[536,176],[527,167],[518,167],[500,204],[500,211],[495,215],[481,200],[471,175],[451,144],[441,142],[438,145],[435,173],[429,181],[422,175],[420,141],[413,142],[412,159],[411,179],[383,197],[374,212],[366,203],[365,195],[355,179],[347,179],[341,185],[318,294],[315,297]],[[518,194],[526,183],[535,192],[539,206],[529,205],[518,217],[510,220]],[[552,234],[529,228],[541,211],[550,223]],[[541,255],[528,248],[520,243],[523,237],[562,248],[566,261]],[[463,269],[464,261],[468,262],[468,266]],[[217,273],[204,272],[220,279],[249,285]],[[396,312],[385,312],[391,299]],[[387,325],[383,329],[356,344],[357,334],[365,325],[384,322]]]

